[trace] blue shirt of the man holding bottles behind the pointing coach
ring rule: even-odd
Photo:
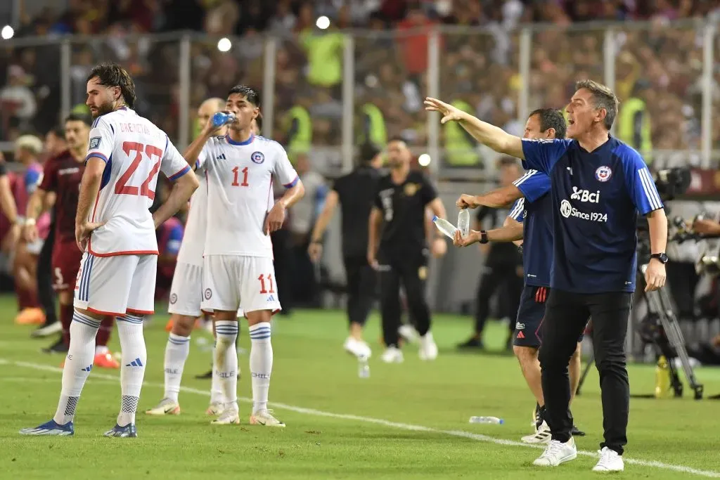
[[[525,284],[550,286],[552,268],[552,196],[550,178],[529,170],[513,182],[523,194],[509,217],[523,222],[523,270]]]

